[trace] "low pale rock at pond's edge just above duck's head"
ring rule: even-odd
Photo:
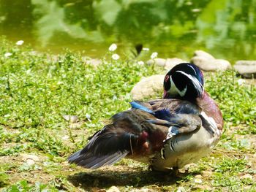
[[[181,63],[187,63],[187,61],[182,60],[181,58],[154,58],[150,59],[146,62],[148,65],[157,65],[157,66],[162,66],[167,70],[170,70],[173,68],[173,66],[176,66]]]

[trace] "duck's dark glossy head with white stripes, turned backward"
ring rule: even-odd
[[[178,64],[165,75],[164,99],[193,100],[202,96],[203,72],[195,64]]]

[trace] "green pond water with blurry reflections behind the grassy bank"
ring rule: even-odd
[[[142,44],[161,58],[203,49],[229,61],[256,59],[256,0],[1,0],[0,35],[35,50],[100,58]]]

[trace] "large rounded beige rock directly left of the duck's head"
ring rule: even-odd
[[[151,77],[144,77],[138,82],[131,91],[132,99],[142,100],[154,96],[157,92],[162,91],[162,83],[165,75],[155,74]]]

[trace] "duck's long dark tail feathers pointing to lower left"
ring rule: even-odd
[[[68,161],[88,169],[112,165],[130,153],[137,140],[135,134],[110,124],[94,134],[86,147],[71,155]]]

